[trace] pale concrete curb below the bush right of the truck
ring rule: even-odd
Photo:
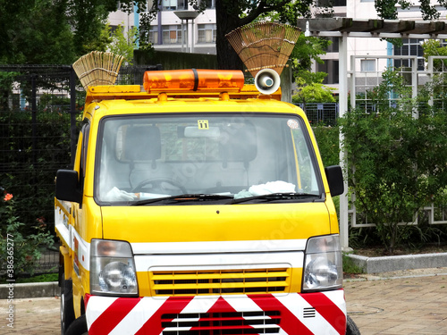
[[[447,267],[447,253],[420,255],[389,255],[366,257],[348,254],[354,264],[365,273],[393,272],[411,269]]]

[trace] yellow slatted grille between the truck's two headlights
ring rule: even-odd
[[[153,296],[289,292],[291,269],[149,272]]]

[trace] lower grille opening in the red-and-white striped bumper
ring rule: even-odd
[[[280,330],[278,311],[163,314],[163,335],[274,334]]]

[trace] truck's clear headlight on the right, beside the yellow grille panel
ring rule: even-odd
[[[303,291],[342,288],[342,251],[338,235],[308,239],[303,276]]]

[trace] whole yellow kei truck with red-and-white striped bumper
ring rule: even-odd
[[[280,91],[194,69],[89,87],[74,167],[56,176],[63,334],[359,333],[342,170]]]

